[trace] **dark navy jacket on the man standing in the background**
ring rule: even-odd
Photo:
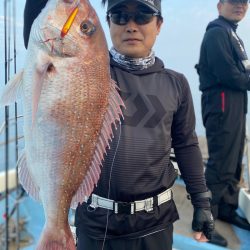
[[[236,28],[221,16],[209,23],[198,64],[201,91],[218,87],[250,90],[250,72],[242,64],[247,55]]]

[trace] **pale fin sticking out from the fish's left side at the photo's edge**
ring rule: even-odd
[[[8,106],[20,98],[23,92],[23,72],[21,71],[4,86],[3,92],[0,95],[0,106]]]

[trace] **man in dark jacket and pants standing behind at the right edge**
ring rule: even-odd
[[[209,151],[205,176],[212,192],[213,215],[246,230],[250,230],[250,225],[236,209],[242,173],[247,91],[250,90],[250,61],[236,31],[247,13],[248,2],[218,2],[219,17],[207,26],[197,65]],[[223,242],[223,238],[218,241],[219,244]]]

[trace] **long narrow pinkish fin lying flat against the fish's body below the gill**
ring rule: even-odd
[[[35,69],[34,75],[34,85],[33,85],[33,92],[32,92],[32,124],[34,125],[36,113],[38,110],[38,104],[43,88],[44,79],[47,76],[48,71],[54,69],[52,58],[43,53],[38,53],[38,62]]]

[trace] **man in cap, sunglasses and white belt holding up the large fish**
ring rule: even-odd
[[[114,130],[97,187],[76,210],[77,249],[172,249],[173,223],[179,216],[171,190],[177,176],[171,147],[194,207],[194,238],[210,240],[211,196],[189,85],[184,75],[166,69],[152,50],[163,23],[161,1],[106,2],[113,43],[110,71],[126,110]],[[27,13],[34,6],[33,0],[26,1],[25,30],[33,22],[34,16]],[[41,5],[35,9],[40,12]],[[28,37],[24,33],[26,46]]]

